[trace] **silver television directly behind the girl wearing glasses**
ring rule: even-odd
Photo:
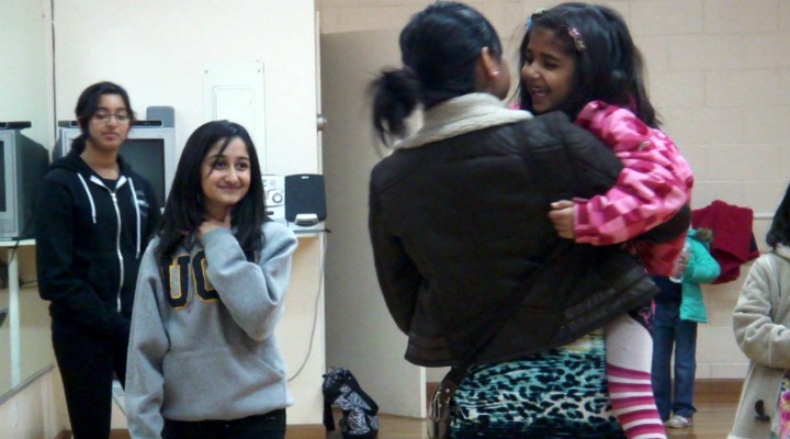
[[[145,122],[145,121],[143,121]],[[53,158],[59,158],[71,149],[71,142],[80,135],[79,127],[59,123],[58,140]],[[176,128],[165,126],[134,125],[126,142],[121,145],[121,156],[135,172],[143,176],[154,187],[159,207],[165,207],[170,184],[176,176]]]

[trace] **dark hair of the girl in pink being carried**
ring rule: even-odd
[[[644,60],[634,45],[623,18],[613,9],[589,3],[567,2],[530,18],[519,49],[520,67],[527,63],[527,48],[534,29],[553,31],[566,53],[576,57],[576,85],[571,98],[560,109],[575,120],[584,105],[600,100],[631,109],[652,127],[661,120],[647,95]],[[577,50],[568,30],[578,31],[585,49]],[[532,99],[519,81],[521,109],[534,112]]]

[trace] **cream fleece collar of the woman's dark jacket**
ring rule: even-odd
[[[395,144],[395,149],[416,148],[483,128],[531,119],[532,114],[511,110],[489,93],[469,93],[449,99],[422,115],[422,126]]]

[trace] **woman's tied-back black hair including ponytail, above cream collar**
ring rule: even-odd
[[[373,127],[384,144],[407,134],[405,120],[418,104],[430,109],[473,92],[483,47],[497,58],[503,53],[488,20],[453,1],[438,1],[416,13],[399,41],[404,67],[382,71],[369,88]]]

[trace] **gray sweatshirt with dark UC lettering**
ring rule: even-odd
[[[253,262],[227,228],[181,248],[169,267],[155,256],[158,238],[148,246],[126,371],[133,438],[161,437],[163,418],[239,419],[293,404],[274,328],[297,241],[274,222],[263,238]]]

